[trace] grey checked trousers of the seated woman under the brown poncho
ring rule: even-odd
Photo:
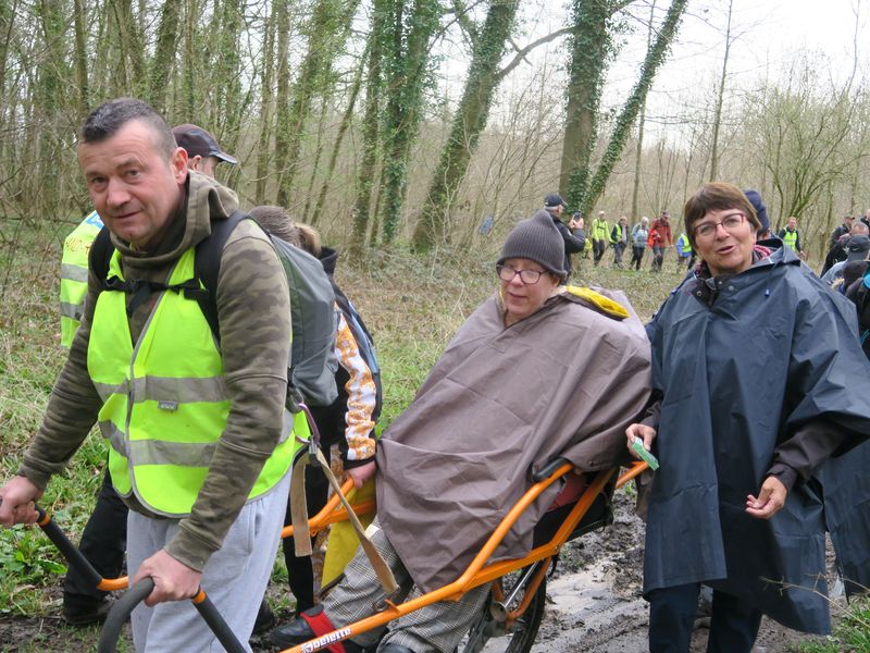
[[[376,529],[376,530],[375,530]],[[372,533],[374,531],[374,533]],[[412,580],[396,550],[393,549],[377,519],[369,530],[372,542],[393,570],[396,582],[403,588],[411,587]],[[427,607],[412,612],[387,625],[387,632],[381,645],[400,644],[414,653],[452,653],[459,641],[468,632],[474,618],[483,608],[489,586],[483,584],[469,591],[459,601],[439,601]],[[411,597],[421,592],[413,588]],[[360,546],[353,559],[345,569],[345,578],[323,602],[323,609],[333,623],[340,628],[374,613],[372,604],[384,597],[384,590],[372,569],[365,552]],[[353,638],[362,646],[371,646],[377,641],[381,631],[370,631]]]

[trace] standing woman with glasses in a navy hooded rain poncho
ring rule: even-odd
[[[700,263],[647,325],[658,401],[626,433],[661,464],[644,556],[654,653],[688,651],[700,583],[713,588],[708,651],[748,653],[762,614],[829,631],[825,528],[841,569],[870,569],[866,470],[822,500],[825,460],[870,459],[855,309],[781,241],[757,244],[759,226],[735,186],[691,197]]]

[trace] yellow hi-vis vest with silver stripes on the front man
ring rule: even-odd
[[[194,278],[194,249],[182,255],[169,285]],[[123,279],[117,252],[109,275]],[[229,414],[223,360],[197,301],[183,293],[160,293],[134,347],[125,293],[103,291],[94,312],[88,373],[103,401],[99,426],[109,443],[115,490],[135,494],[156,514],[189,515]],[[248,500],[287,473],[301,446],[290,433],[308,436],[299,416],[293,423],[285,414],[281,442]]]

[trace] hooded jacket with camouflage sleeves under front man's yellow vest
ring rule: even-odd
[[[228,188],[189,173],[184,200],[153,252],[137,251],[112,236],[122,255],[125,279],[165,282],[181,255],[209,235],[211,220],[225,219],[237,204]],[[63,469],[101,407],[87,371],[90,324],[99,292],[100,282],[90,270],[82,325],[37,436],[24,455],[20,473],[39,488]],[[130,316],[134,342],[156,298],[152,296]],[[166,546],[173,557],[197,570],[221,547],[282,431],[290,352],[289,293],[277,255],[252,222],[239,223],[224,246],[215,299],[231,410],[191,514],[181,520],[178,533]],[[157,518],[135,495],[124,502],[130,509]]]

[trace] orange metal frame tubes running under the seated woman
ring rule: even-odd
[[[635,463],[629,471],[620,477],[618,485],[624,485],[629,480],[646,469],[646,463]],[[549,488],[559,478],[570,472],[573,468],[573,465],[566,463],[556,471],[554,471],[548,478],[532,485],[525,492],[525,494],[523,494],[520,501],[517,502],[517,505],[514,505],[508,512],[508,514],[501,520],[501,523],[498,525],[496,530],[486,541],[486,544],[484,544],[483,549],[481,549],[465,571],[463,571],[462,575],[453,582],[398,605],[387,601],[387,607],[383,612],[374,614],[370,617],[365,617],[364,619],[360,619],[356,624],[350,624],[340,628],[339,630],[325,633],[303,644],[298,644],[290,649],[286,649],[283,651],[283,653],[302,653],[303,648],[306,652],[325,649],[330,644],[333,644],[337,641],[343,641],[353,638],[358,634],[362,634],[363,632],[369,632],[370,630],[384,626],[393,619],[405,616],[409,613],[420,609],[421,607],[437,603],[438,601],[456,601],[472,588],[476,588],[487,582],[493,582],[510,571],[515,571],[517,569],[521,569],[538,560],[551,558],[554,555],[559,553],[562,545],[568,541],[569,535],[580,523],[581,519],[583,519],[583,516],[588,512],[595,498],[613,478],[613,475],[617,473],[618,468],[600,471],[595,476],[593,481],[580,496],[577,503],[571,509],[568,517],[549,542],[533,549],[525,557],[514,558],[511,560],[501,560],[484,567],[486,560],[493,555],[496,547],[501,543],[501,540],[505,539],[505,535],[508,534],[508,531],[510,531],[510,529],[513,527],[514,522],[523,513],[523,510],[525,510],[535,501],[535,498],[537,498],[540,493],[544,492],[544,490]],[[544,565],[544,567],[546,568],[546,565]],[[535,587],[537,587],[542,578],[543,574],[539,574],[535,578]],[[511,614],[509,615],[509,618],[517,618],[519,614]]]

